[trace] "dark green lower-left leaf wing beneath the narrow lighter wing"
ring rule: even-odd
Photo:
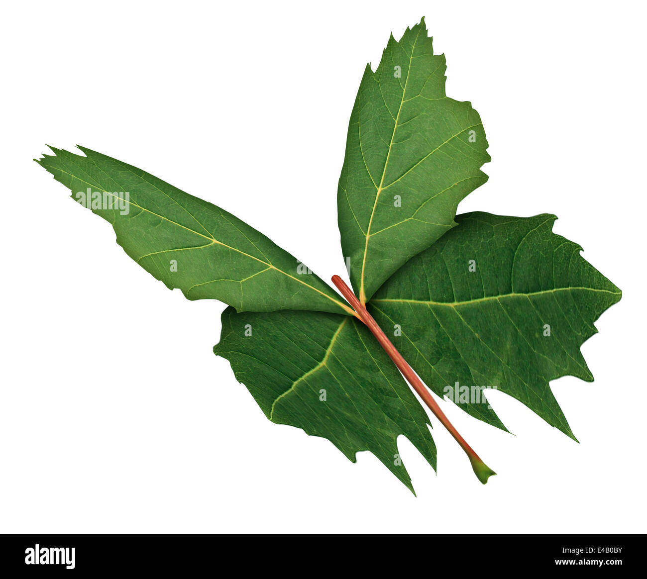
[[[265,415],[329,439],[355,462],[369,450],[413,491],[399,459],[404,434],[435,468],[428,417],[362,323],[323,312],[237,314],[214,353],[230,361]],[[325,400],[323,400],[325,398]]]

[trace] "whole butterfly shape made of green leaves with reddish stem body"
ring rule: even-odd
[[[479,115],[446,96],[444,71],[423,20],[399,42],[391,36],[360,84],[338,189],[359,300],[334,278],[357,317],[294,257],[221,208],[89,149],[85,157],[52,149],[38,160],[113,224],[117,242],[155,278],[192,300],[232,306],[214,352],[271,421],[325,437],[353,462],[369,450],[411,490],[397,437],[433,468],[436,450],[397,367],[485,483],[494,471],[408,364],[437,395],[488,424],[505,429],[482,391],[497,388],[573,437],[549,382],[593,380],[580,346],[621,296],[580,246],[553,234],[552,215],[455,217],[487,180],[480,168],[490,157]]]

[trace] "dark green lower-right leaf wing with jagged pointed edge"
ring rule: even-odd
[[[459,226],[400,268],[368,309],[383,328],[399,325],[393,343],[438,395],[460,400],[456,382],[475,393],[496,388],[573,437],[549,382],[593,380],[580,345],[621,292],[579,245],[552,232],[555,219],[460,215]],[[502,427],[483,400],[459,406]]]

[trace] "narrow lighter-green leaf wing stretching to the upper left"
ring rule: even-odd
[[[239,311],[352,313],[331,287],[231,213],[96,151],[79,147],[83,157],[50,148],[55,155],[37,162],[113,225],[130,257],[190,300],[221,300]]]

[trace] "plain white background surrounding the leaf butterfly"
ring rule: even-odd
[[[3,8],[1,532],[642,532],[644,16],[639,3],[11,3]],[[490,180],[459,212],[556,213],[624,290],[554,393],[580,444],[503,393],[513,435],[441,402],[418,497],[371,454],[265,419],[217,301],[170,292],[32,162],[44,143],[135,164],[345,276],[336,185],[367,61],[426,16]],[[484,543],[487,547],[487,543]]]

